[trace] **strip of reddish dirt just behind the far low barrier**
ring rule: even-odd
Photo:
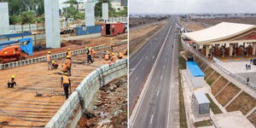
[[[74,49],[84,49],[85,47],[91,47],[102,44],[109,44],[110,39],[113,38],[113,42],[119,42],[127,39],[127,33],[120,34],[114,37],[98,37],[98,38],[81,38],[75,40],[62,40],[61,48],[59,49],[43,49],[40,51],[34,51],[33,55],[26,57],[27,59],[36,58],[42,55],[47,55],[47,52],[50,50],[52,54],[66,52],[68,48],[71,50]]]

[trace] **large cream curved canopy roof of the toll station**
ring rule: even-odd
[[[195,44],[231,44],[256,42],[256,26],[221,22],[196,32],[183,33]]]

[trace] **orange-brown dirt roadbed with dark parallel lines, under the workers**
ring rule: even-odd
[[[126,44],[114,47],[114,52],[125,48]],[[72,90],[89,73],[109,62],[101,57],[104,50],[96,50],[96,61],[89,66],[84,63],[85,55],[73,56]],[[62,64],[64,60],[57,61]],[[6,85],[11,75],[17,82],[14,89]],[[65,102],[61,67],[48,71],[46,62],[1,70],[0,85],[0,127],[44,127]],[[35,96],[37,92],[43,96]]]

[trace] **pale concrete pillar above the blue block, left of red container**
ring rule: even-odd
[[[85,3],[85,26],[95,26],[95,3]]]

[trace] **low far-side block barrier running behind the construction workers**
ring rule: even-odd
[[[121,44],[127,44],[127,40],[121,41],[118,43],[114,43],[114,46],[118,46]],[[108,44],[103,44],[99,46],[93,47],[94,49],[110,49],[110,46]],[[72,51],[72,55],[81,55],[85,54],[85,49],[76,49]],[[51,55],[52,59],[60,59],[64,58],[67,55],[67,52],[62,52],[58,54]],[[38,62],[43,62],[46,61],[46,55],[38,58],[32,58],[32,59],[27,59],[27,60],[22,60],[22,61],[14,61],[14,62],[9,62],[9,63],[4,63],[0,64],[0,70],[7,69],[7,68],[14,68],[14,67],[21,67],[21,66],[26,66]]]

